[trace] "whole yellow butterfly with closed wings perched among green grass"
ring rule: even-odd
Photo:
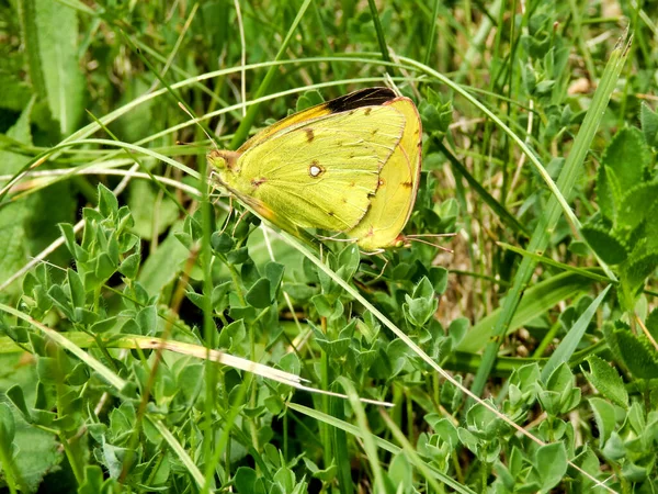
[[[237,151],[213,150],[208,162],[220,186],[282,229],[344,233],[379,251],[402,243],[421,137],[410,99],[368,88],[283,119]]]

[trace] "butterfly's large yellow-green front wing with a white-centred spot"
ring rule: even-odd
[[[366,214],[405,121],[378,105],[295,122],[252,143],[223,180],[295,226],[345,232]]]

